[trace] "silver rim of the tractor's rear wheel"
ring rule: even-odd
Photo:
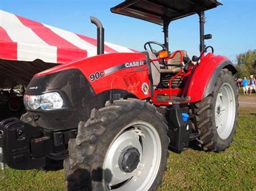
[[[229,137],[236,117],[236,100],[233,88],[228,83],[222,84],[218,91],[215,105],[215,124],[221,139]]]

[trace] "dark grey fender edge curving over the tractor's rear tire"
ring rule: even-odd
[[[213,72],[213,75],[212,77],[210,78],[208,84],[207,84],[207,87],[205,88],[204,90],[204,95],[203,95],[203,99],[205,97],[207,97],[210,92],[212,92],[212,89],[213,89],[213,86],[214,84],[216,83],[216,80],[217,80],[217,77],[218,77],[218,74],[220,74],[220,71],[222,69],[228,69],[229,71],[232,72],[232,74],[236,74],[237,73],[237,69],[236,67],[234,67],[233,63],[229,60],[226,60],[226,61],[223,61],[221,62],[217,67],[216,69],[214,70]]]

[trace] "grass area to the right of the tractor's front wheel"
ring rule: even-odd
[[[256,109],[240,109],[234,142],[221,153],[171,153],[159,191],[256,191]]]

